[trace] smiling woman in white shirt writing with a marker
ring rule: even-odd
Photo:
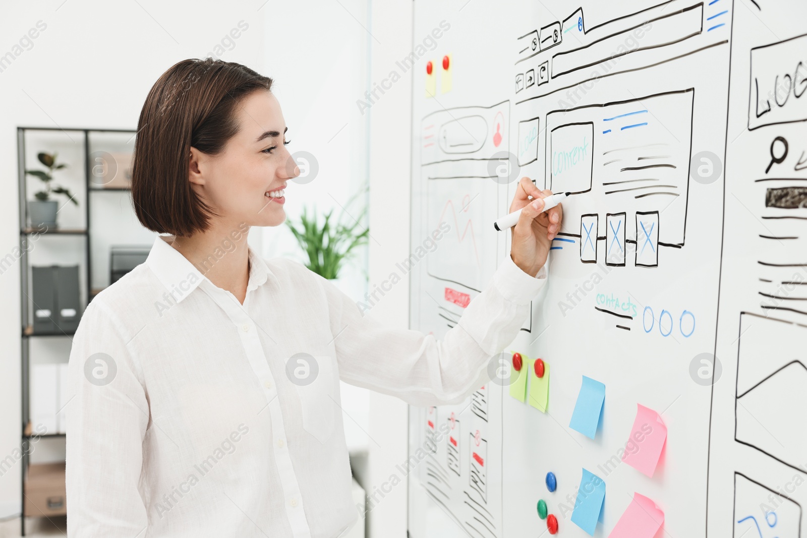
[[[561,208],[539,215],[549,192],[526,177],[511,256],[442,341],[362,317],[295,261],[262,260],[249,227],[283,223],[299,174],[271,85],[184,60],[146,98],[132,199],[169,236],[93,299],[73,340],[71,538],[340,536],[358,515],[338,380],[461,402],[546,282]]]

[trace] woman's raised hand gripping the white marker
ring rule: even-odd
[[[529,177],[522,177],[510,204],[511,213],[524,208],[518,223],[511,228],[510,257],[522,271],[533,277],[546,264],[552,240],[560,231],[563,219],[562,204],[541,213],[544,211],[543,198],[551,195],[551,190],[538,190]],[[533,200],[530,201],[528,196]]]

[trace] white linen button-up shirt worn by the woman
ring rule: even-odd
[[[358,510],[338,380],[462,402],[546,282],[506,256],[438,341],[362,316],[298,262],[249,261],[241,305],[158,237],[90,302],[69,358],[70,538],[340,536]],[[314,357],[305,386],[297,353]]]

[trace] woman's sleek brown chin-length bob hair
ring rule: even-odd
[[[236,106],[272,79],[230,61],[182,60],[154,83],[137,122],[132,202],[151,231],[192,236],[215,216],[188,181],[190,147],[218,155],[238,132]]]

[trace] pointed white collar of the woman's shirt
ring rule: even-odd
[[[174,247],[169,241],[174,240],[172,236],[157,236],[146,264],[157,276],[168,293],[175,302],[182,302],[182,299],[190,295],[203,281],[210,282],[207,277],[199,272],[190,261]],[[274,273],[266,265],[261,256],[258,256],[252,248],[249,248],[249,283],[247,291],[254,290],[262,286],[266,281],[274,277]],[[212,282],[210,282],[212,286]]]

